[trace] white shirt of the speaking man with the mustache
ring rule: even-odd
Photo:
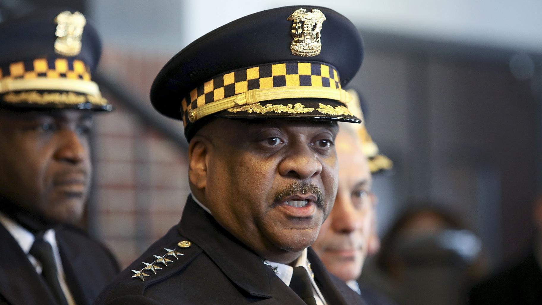
[[[211,211],[209,211],[206,206],[199,202],[195,196],[193,196],[192,194],[190,194],[190,196],[192,196],[192,199],[196,202],[196,204],[198,204],[198,206],[202,207],[205,211],[207,211],[207,213],[211,214]],[[264,263],[272,266],[273,269],[276,268],[275,275],[278,276],[281,281],[284,282],[287,286],[290,285],[290,281],[292,281],[292,275],[294,274],[294,268],[292,266],[270,262],[269,260],[264,261]],[[307,249],[301,252],[301,256],[298,258],[295,266],[303,266],[307,271],[308,277],[311,279],[312,293],[314,295],[314,298],[316,299],[317,305],[327,305],[326,301],[324,300],[324,296],[322,296],[320,289],[318,289],[318,285],[316,284],[316,282],[314,282],[313,273],[311,270],[311,263],[307,259]]]

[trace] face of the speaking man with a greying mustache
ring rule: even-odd
[[[337,124],[216,119],[208,125],[204,203],[260,256],[292,262],[317,238],[333,206]]]

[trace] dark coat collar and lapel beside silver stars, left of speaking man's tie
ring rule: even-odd
[[[238,287],[257,297],[272,297],[270,281],[275,277],[263,259],[225,230],[212,215],[188,197],[179,233],[195,243]],[[267,279],[267,280],[262,280]]]

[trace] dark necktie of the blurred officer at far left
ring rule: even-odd
[[[57,276],[55,256],[53,247],[43,239],[43,233],[37,233],[34,244],[30,248],[30,255],[34,256],[42,265],[41,275],[49,285],[51,293],[53,293],[56,301],[60,305],[68,305],[66,296],[60,286],[59,277]]]

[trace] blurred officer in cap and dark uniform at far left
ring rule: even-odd
[[[79,12],[0,24],[0,304],[90,305],[118,273],[111,253],[68,223],[91,181],[89,132],[109,111],[91,72],[96,31]]]

